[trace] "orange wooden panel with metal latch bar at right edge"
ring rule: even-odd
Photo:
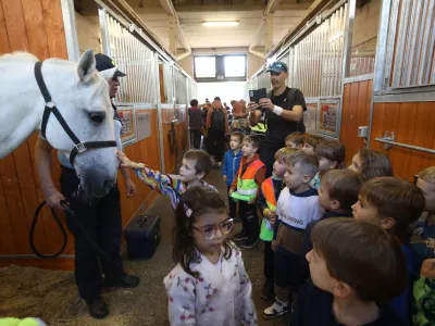
[[[385,151],[396,176],[413,180],[422,168],[435,165],[435,155],[393,147],[386,150],[375,141],[385,131],[394,131],[395,141],[435,148],[435,102],[374,103],[370,148]]]

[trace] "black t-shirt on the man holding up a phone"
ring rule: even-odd
[[[278,96],[274,96],[273,91],[271,95],[271,101],[273,104],[283,108],[284,110],[293,110],[293,106],[300,105],[303,108],[303,111],[307,110],[306,99],[303,98],[303,93],[299,89],[295,89],[293,98],[288,99],[288,92],[290,89],[286,87],[284,92]],[[294,133],[299,131],[304,134],[306,127],[303,125],[303,118],[301,122],[293,122],[286,121],[282,116],[276,115],[275,113],[266,110],[265,111],[265,121],[268,124],[268,131],[265,141],[273,141],[273,142],[282,142],[284,143],[285,138]]]

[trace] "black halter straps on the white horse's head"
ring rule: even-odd
[[[62,128],[65,130],[66,135],[73,140],[74,147],[71,150],[70,153],[70,162],[71,165],[74,166],[74,159],[78,153],[83,153],[87,151],[88,149],[95,149],[95,148],[104,148],[104,147],[116,147],[116,141],[114,140],[105,140],[105,141],[80,141],[77,136],[71,130],[70,126],[63,118],[62,114],[59,112],[58,108],[55,106],[55,103],[51,99],[50,92],[47,89],[46,83],[44,82],[42,77],[42,62],[36,62],[35,63],[35,78],[36,83],[38,83],[39,90],[42,93],[42,97],[46,101],[46,109],[44,110],[44,115],[42,115],[42,125],[41,125],[41,134],[44,138],[47,139],[46,137],[46,128],[47,128],[47,123],[50,117],[50,113],[53,113],[55,118],[59,121],[61,124]]]

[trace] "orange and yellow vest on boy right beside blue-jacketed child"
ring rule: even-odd
[[[264,164],[260,160],[256,160],[249,163],[245,173],[241,175],[243,167],[243,164],[240,164],[237,173],[237,191],[233,192],[232,198],[236,201],[250,201],[257,197],[258,192],[256,174],[260,168],[264,167]]]

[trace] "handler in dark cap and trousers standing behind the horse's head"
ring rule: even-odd
[[[116,96],[120,86],[119,78],[126,76],[120,72],[114,62],[104,54],[96,54],[96,68],[100,72],[112,73],[108,79],[110,98]],[[121,145],[122,124],[114,109],[115,138],[119,150]],[[100,256],[95,248],[85,238],[76,222],[67,216],[66,223],[75,237],[75,279],[80,297],[85,300],[89,313],[95,318],[103,318],[109,314],[108,305],[101,298],[101,289],[105,287],[136,287],[139,277],[127,275],[123,269],[123,262],[120,256],[120,243],[122,237],[121,201],[117,185],[102,198],[92,199],[91,204],[88,200],[77,193],[79,179],[74,167],[65,153],[59,151],[59,161],[62,166],[61,190],[59,192],[51,177],[51,146],[40,135],[36,145],[36,164],[41,179],[41,187],[47,203],[57,209],[63,209],[60,201],[67,198],[71,209],[75,212],[77,221],[86,229],[91,240],[107,253],[108,258]],[[135,193],[133,184],[127,170],[120,167],[124,177],[127,196]],[[102,277],[104,275],[104,278]]]

